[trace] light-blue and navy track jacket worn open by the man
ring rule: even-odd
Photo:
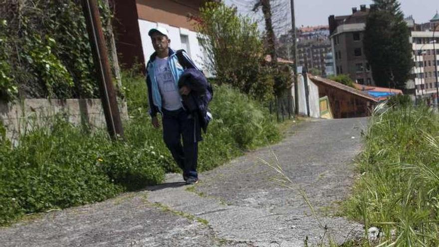
[[[185,51],[183,53],[183,63],[180,64],[179,59],[177,57],[176,52],[169,48],[168,55],[168,63],[169,68],[171,69],[171,73],[174,77],[175,86],[178,90],[178,81],[180,76],[184,72],[185,68],[194,68],[197,69],[195,63],[191,60],[191,58],[186,54]],[[154,52],[147,65],[146,65],[146,84],[148,87],[148,99],[149,99],[149,107],[150,107],[150,115],[152,117],[157,115],[157,112],[162,113],[162,95],[160,94],[159,86],[157,84],[157,80],[155,77],[155,59],[157,57],[157,52]]]

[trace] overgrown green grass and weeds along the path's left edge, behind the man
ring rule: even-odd
[[[0,129],[0,225],[25,214],[102,201],[160,183],[166,172],[181,172],[162,131],[151,125],[144,77],[123,78],[130,115],[124,141],[112,141],[104,129],[74,126],[67,115],[22,131],[17,145]],[[267,111],[236,90],[215,87],[211,108],[214,120],[200,143],[199,171],[280,139]]]

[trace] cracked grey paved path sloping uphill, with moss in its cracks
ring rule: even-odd
[[[307,204],[297,191],[270,182],[273,171],[257,161],[273,162],[273,153],[343,242],[362,227],[330,209],[349,193],[366,123],[301,123],[281,143],[202,174],[199,185],[184,186],[180,175],[169,174],[165,184],[145,191],[2,228],[0,247],[300,247],[306,236],[319,243],[324,230]]]

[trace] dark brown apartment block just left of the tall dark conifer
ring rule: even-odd
[[[371,4],[371,8],[375,6]],[[369,62],[364,54],[363,37],[370,8],[352,8],[352,14],[329,16],[329,31],[334,54],[335,74],[348,74],[359,84],[375,85]]]

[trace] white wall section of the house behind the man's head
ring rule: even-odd
[[[171,48],[178,50],[182,48],[182,43],[180,40],[180,35],[187,35],[189,38],[189,56],[194,60],[195,64],[201,69],[205,69],[203,62],[203,52],[202,48],[198,42],[197,33],[186,28],[180,28],[175,26],[170,26],[168,24],[151,22],[147,20],[139,19],[139,29],[140,37],[142,39],[143,54],[145,56],[145,64],[148,62],[149,57],[154,52],[153,45],[151,43],[151,38],[148,35],[148,31],[151,28],[162,26],[168,30],[169,38],[171,39]]]

